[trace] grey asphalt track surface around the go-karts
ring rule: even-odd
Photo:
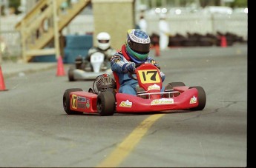
[[[7,78],[0,167],[246,167],[247,47],[171,48],[157,60],[164,84],[203,87],[203,111],[67,115],[65,90],[93,81],[53,69]]]

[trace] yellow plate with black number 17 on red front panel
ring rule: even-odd
[[[142,84],[160,82],[160,76],[157,70],[139,70],[139,76]]]

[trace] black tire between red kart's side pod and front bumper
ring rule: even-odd
[[[97,96],[97,111],[101,116],[114,115],[116,98],[110,91],[100,92]]]

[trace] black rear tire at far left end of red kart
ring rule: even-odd
[[[82,89],[80,89],[80,88],[68,89],[68,90],[65,90],[65,93],[63,94],[63,108],[64,108],[65,112],[66,112],[68,115],[78,115],[78,114],[81,114],[81,113],[82,113],[82,112],[76,112],[76,111],[70,110],[70,98],[69,98],[69,94],[70,94],[71,92],[77,92],[77,91],[82,91]]]

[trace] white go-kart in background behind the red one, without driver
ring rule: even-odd
[[[105,55],[100,52],[93,53],[91,55],[90,70],[86,70],[82,64],[82,57],[76,58],[76,67],[70,67],[68,69],[69,81],[82,81],[82,80],[94,80],[98,75],[102,73],[112,73],[111,69],[107,67],[104,62]]]

